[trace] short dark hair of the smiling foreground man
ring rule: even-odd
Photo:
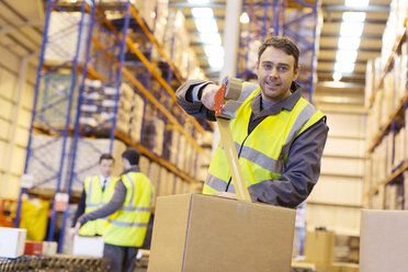
[[[261,59],[263,52],[267,47],[273,46],[274,48],[284,50],[287,55],[295,58],[294,69],[298,67],[299,61],[299,48],[297,48],[296,43],[288,36],[274,36],[268,38],[258,49],[258,63]]]

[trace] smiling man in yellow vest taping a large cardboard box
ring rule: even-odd
[[[296,207],[320,174],[328,127],[326,116],[301,97],[295,80],[299,50],[288,37],[271,37],[259,48],[258,84],[243,82],[246,97],[230,121],[242,174],[252,201]],[[215,121],[212,82],[189,80],[177,91],[191,115]],[[218,145],[204,194],[236,197],[224,150]]]

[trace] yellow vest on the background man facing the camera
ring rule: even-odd
[[[86,191],[86,209],[84,213],[93,212],[106,204],[115,192],[117,178],[112,178],[105,190],[102,192],[102,184],[99,175],[88,177],[83,183]],[[80,229],[81,236],[103,235],[106,218],[87,222]]]

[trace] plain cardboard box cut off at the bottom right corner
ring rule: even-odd
[[[361,272],[406,272],[408,212],[362,211]]]

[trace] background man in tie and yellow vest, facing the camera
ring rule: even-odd
[[[72,220],[70,235],[75,234],[75,225],[83,213],[90,213],[106,204],[113,195],[116,178],[112,177],[114,158],[110,154],[102,154],[99,158],[99,170],[101,174],[88,177],[83,182],[83,191],[77,212]],[[102,236],[105,226],[105,218],[90,220],[84,224],[79,234],[81,236]]]

